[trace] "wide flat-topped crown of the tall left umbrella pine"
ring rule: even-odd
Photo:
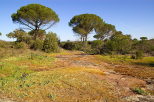
[[[39,30],[44,27],[48,29],[59,21],[58,15],[52,9],[40,4],[23,6],[11,17],[13,22],[24,25],[30,30]]]

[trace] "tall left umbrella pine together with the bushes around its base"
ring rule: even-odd
[[[58,38],[55,33],[46,33],[46,30],[59,22],[58,15],[50,8],[40,4],[29,4],[21,7],[12,14],[12,21],[25,28],[16,29],[7,34],[15,38],[15,48],[29,47],[45,52],[58,51]],[[28,32],[24,31],[26,29]]]

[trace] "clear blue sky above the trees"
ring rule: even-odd
[[[48,31],[57,33],[61,41],[78,40],[68,22],[73,16],[84,13],[100,16],[132,38],[154,38],[154,0],[0,0],[1,40],[13,40],[6,34],[20,26],[12,22],[11,14],[32,3],[47,6],[58,14],[60,22]],[[93,40],[93,35],[89,36],[89,40]]]

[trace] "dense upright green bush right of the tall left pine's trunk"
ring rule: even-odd
[[[49,32],[46,35],[46,38],[45,38],[44,44],[43,44],[43,50],[47,53],[58,52],[58,50],[59,50],[58,38],[55,33]]]

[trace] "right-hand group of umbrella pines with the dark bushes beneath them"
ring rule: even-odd
[[[154,55],[153,39],[148,40],[147,37],[141,37],[140,40],[132,39],[129,34],[117,31],[114,25],[104,22],[95,14],[74,16],[69,26],[80,36],[82,44],[63,42],[62,47],[65,49],[82,50],[90,54],[132,54],[135,59],[142,58],[144,54]],[[88,41],[91,32],[95,32],[93,37],[97,40]]]

